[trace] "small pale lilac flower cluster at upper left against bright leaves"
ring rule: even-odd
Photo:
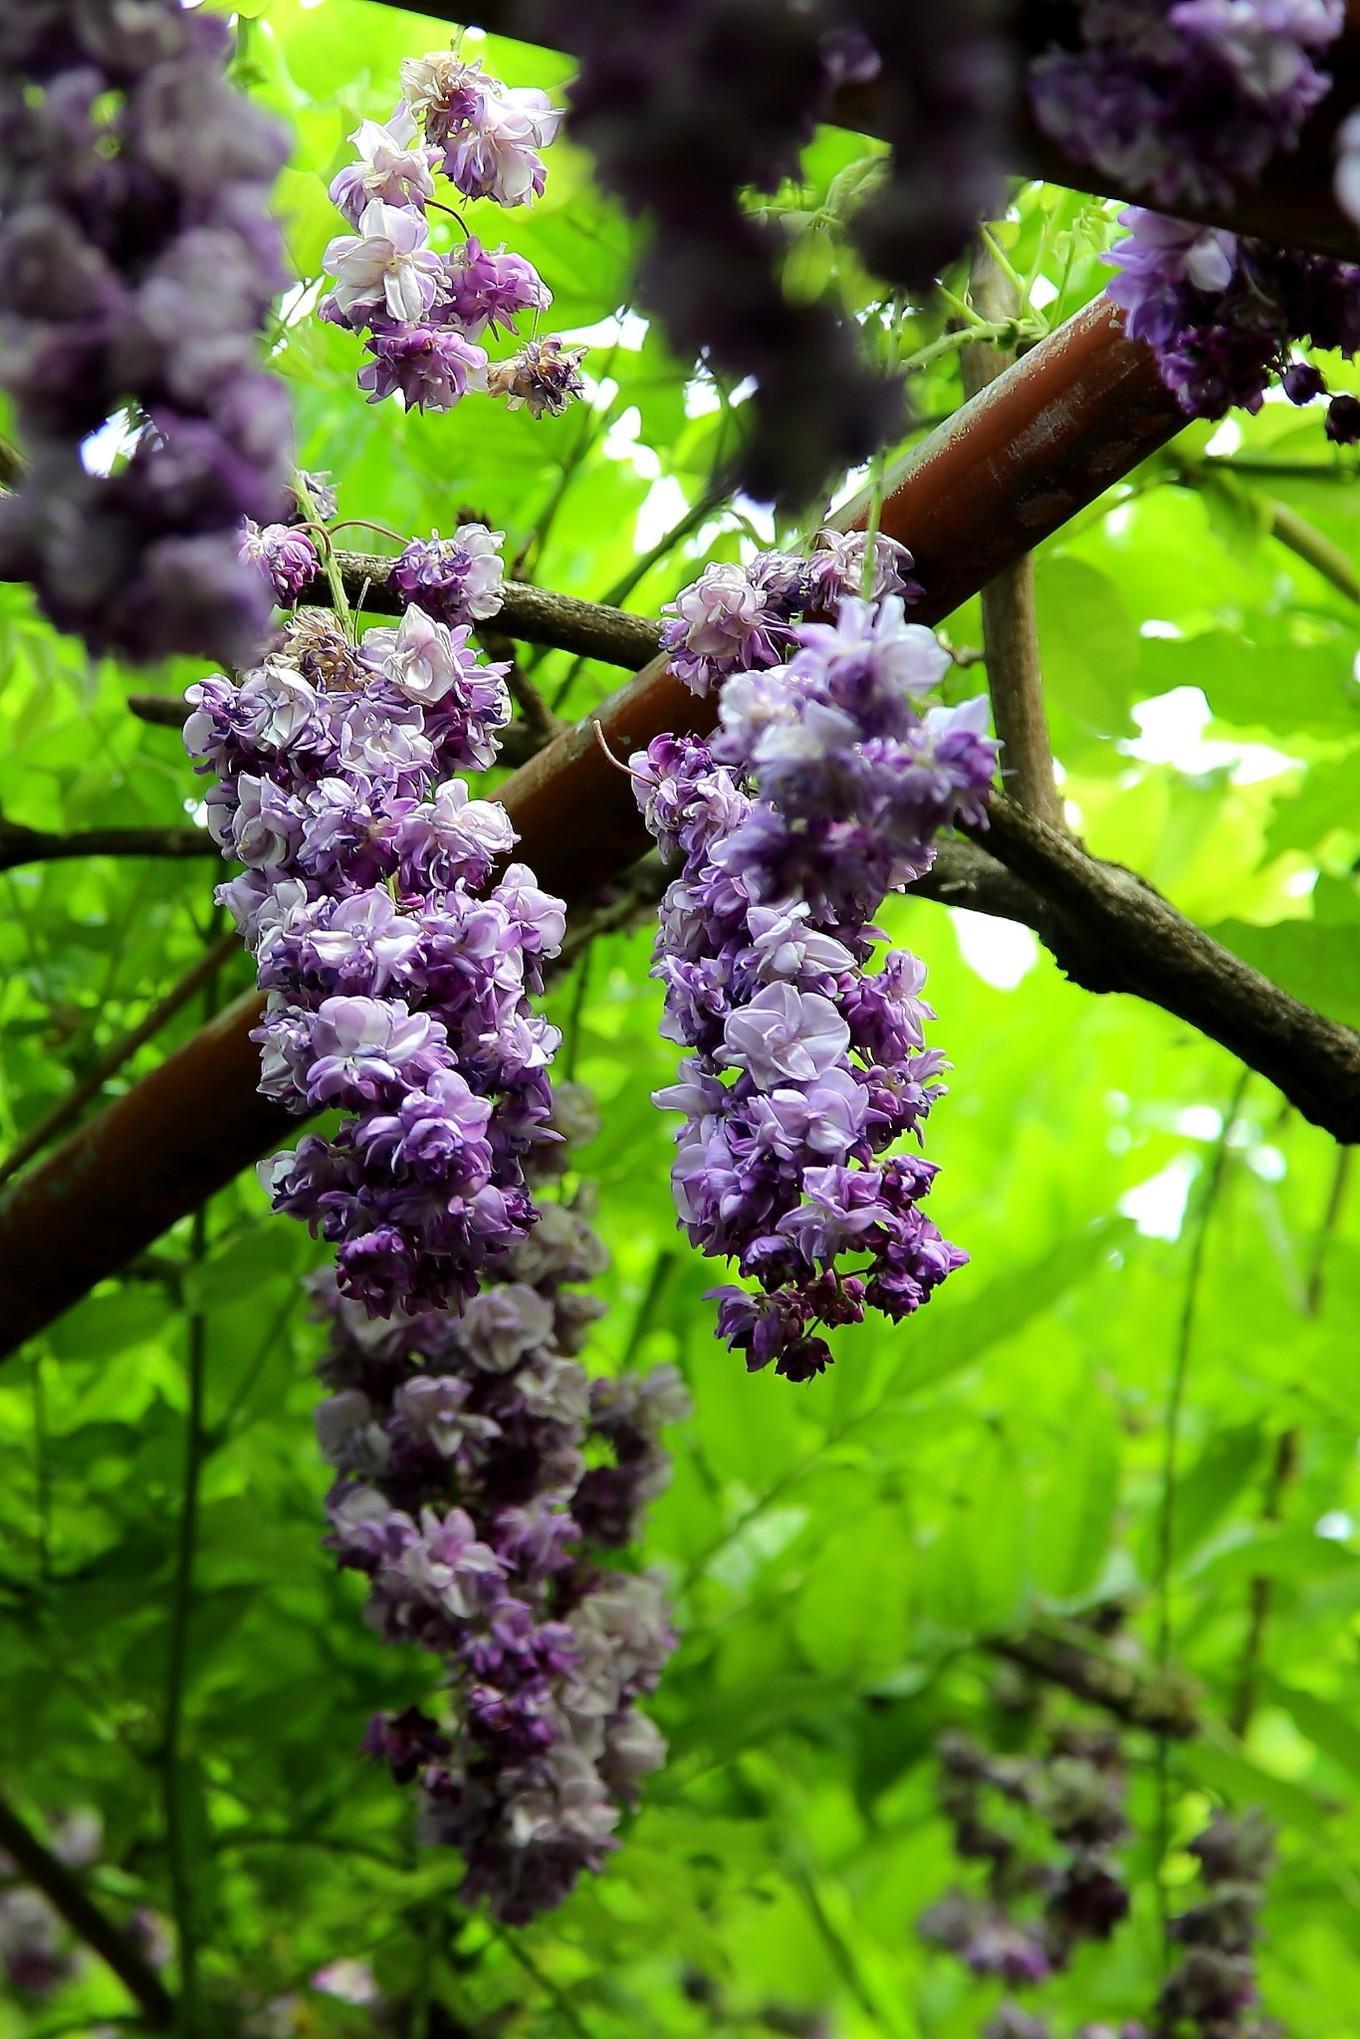
[[[522,255],[483,247],[461,214],[463,243],[436,253],[428,208],[438,204],[436,175],[459,202],[530,204],[544,188],[540,151],[561,114],[546,92],[512,90],[455,51],[406,61],[402,94],[389,120],[355,128],[359,161],[330,186],[353,232],[326,249],[334,290],[320,316],[363,332],[369,361],[359,387],[371,404],[400,394],[408,410],[453,410],[469,389],[485,389],[534,418],[557,416],[581,396],[585,349],[534,336],[491,363],[483,345],[514,332],[524,312],[544,312],[551,290]]]

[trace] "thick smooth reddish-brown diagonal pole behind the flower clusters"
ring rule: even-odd
[[[1152,357],[1119,338],[1107,304],[1068,320],[889,477],[883,530],[916,553],[928,589],[918,614],[946,616],[1179,426]],[[854,520],[850,506],[840,522]],[[575,608],[589,624],[589,606]],[[710,728],[716,703],[655,661],[597,714],[624,756],[663,730]],[[648,846],[632,787],[597,748],[593,722],[565,730],[502,787],[520,854],[575,905]],[[292,1140],[298,1121],[255,1089],[257,1011],[247,997],[220,1013],[0,1195],[0,1352]]]

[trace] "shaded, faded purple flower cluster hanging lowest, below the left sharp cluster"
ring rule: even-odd
[[[563,1134],[589,1134],[581,1107],[563,1085]],[[320,1289],[330,1541],[371,1580],[379,1633],[440,1658],[451,1692],[442,1721],[379,1715],[365,1745],[418,1782],[424,1837],[465,1858],[463,1896],[512,1925],[604,1864],[665,1758],[636,1707],[675,1643],[661,1584],[608,1558],[667,1484],[661,1429],[687,1397],[673,1366],[591,1382],[573,1356],[599,1313],[567,1287],[604,1264],[587,1209],[546,1203],[457,1319],[369,1323]]]

